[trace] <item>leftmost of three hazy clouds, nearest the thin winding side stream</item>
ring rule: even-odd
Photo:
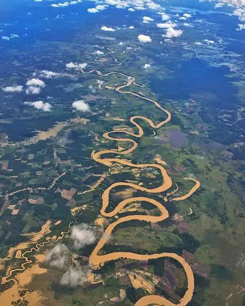
[[[49,253],[46,255],[45,261],[50,266],[57,268],[63,268],[67,259],[68,249],[64,244],[57,244]]]

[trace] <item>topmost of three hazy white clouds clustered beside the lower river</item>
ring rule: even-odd
[[[94,243],[97,239],[97,236],[92,226],[82,223],[80,225],[72,226],[70,238],[74,242],[74,247],[76,249],[80,249],[85,245]]]

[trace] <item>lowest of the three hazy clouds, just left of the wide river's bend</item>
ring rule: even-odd
[[[60,284],[71,288],[82,286],[86,282],[87,275],[90,272],[90,266],[70,266],[69,269],[62,275]]]

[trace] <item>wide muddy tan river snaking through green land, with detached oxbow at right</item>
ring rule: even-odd
[[[134,132],[130,132],[130,131],[124,131],[124,130],[116,130],[116,131],[109,131],[103,134],[103,137],[105,139],[108,140],[114,140],[114,141],[118,141],[118,142],[127,142],[129,144],[131,144],[131,146],[128,149],[123,150],[121,147],[119,147],[118,149],[111,149],[111,150],[102,150],[99,152],[95,152],[93,151],[91,154],[91,157],[98,163],[106,165],[108,167],[112,166],[113,163],[117,163],[117,164],[121,164],[121,165],[125,165],[125,166],[129,166],[132,168],[155,168],[158,171],[160,171],[161,175],[162,175],[162,184],[156,188],[146,188],[134,183],[129,183],[129,182],[117,182],[117,183],[113,183],[111,184],[109,187],[107,187],[103,194],[102,194],[102,208],[100,210],[100,213],[102,216],[104,217],[114,217],[117,214],[120,214],[120,211],[128,204],[132,203],[132,202],[148,202],[153,204],[156,208],[159,209],[160,211],[160,216],[143,216],[143,215],[131,215],[131,216],[126,216],[126,217],[122,217],[119,218],[118,220],[116,220],[115,222],[109,224],[107,226],[107,228],[105,229],[104,235],[103,237],[98,241],[97,246],[95,247],[94,251],[92,252],[89,262],[90,264],[94,267],[94,268],[98,268],[101,264],[103,264],[104,262],[108,262],[108,261],[115,261],[118,260],[120,258],[125,258],[125,259],[132,259],[132,260],[149,260],[149,259],[158,259],[158,258],[165,258],[165,257],[169,257],[169,258],[173,258],[176,261],[178,261],[184,268],[185,273],[186,273],[186,277],[187,277],[187,291],[184,295],[184,297],[179,301],[178,304],[173,304],[172,302],[168,301],[167,299],[161,297],[161,296],[157,296],[157,295],[149,295],[149,296],[145,296],[143,298],[141,298],[136,304],[135,306],[148,306],[148,305],[160,305],[160,306],[174,306],[174,305],[179,305],[179,306],[184,306],[187,305],[193,296],[193,292],[194,292],[194,274],[193,271],[190,267],[190,265],[179,255],[175,254],[175,253],[159,253],[159,254],[145,254],[145,255],[141,255],[141,254],[136,254],[136,253],[132,253],[132,252],[113,252],[110,254],[106,254],[106,255],[99,255],[100,250],[103,248],[103,246],[105,245],[105,243],[108,241],[112,231],[114,230],[114,228],[119,225],[120,223],[123,222],[127,222],[127,221],[131,221],[131,220],[141,220],[141,221],[147,221],[147,222],[158,222],[158,221],[162,221],[164,219],[167,219],[169,217],[168,211],[166,210],[166,208],[158,201],[151,199],[149,197],[133,197],[130,199],[126,199],[121,201],[117,207],[111,211],[111,212],[106,212],[107,207],[109,206],[109,195],[110,195],[110,191],[117,187],[117,186],[124,186],[124,187],[132,187],[135,188],[137,190],[141,190],[147,193],[161,193],[164,192],[166,190],[168,190],[171,186],[172,186],[172,180],[169,177],[169,175],[167,174],[166,170],[164,169],[163,166],[161,165],[157,165],[157,164],[134,164],[131,161],[127,160],[127,159],[121,159],[121,158],[102,158],[102,156],[106,155],[106,154],[120,154],[120,155],[127,155],[129,153],[132,153],[138,146],[138,143],[132,139],[132,138],[116,138],[113,137],[113,133],[123,133],[129,136],[133,136],[133,137],[137,137],[140,138],[143,136],[144,131],[141,127],[141,125],[139,123],[137,123],[135,120],[144,120],[146,121],[149,126],[151,128],[154,129],[158,129],[160,127],[162,127],[163,125],[165,125],[167,122],[170,121],[171,119],[171,114],[168,110],[162,108],[160,106],[159,103],[157,103],[156,101],[149,99],[147,97],[144,97],[138,93],[135,92],[131,92],[131,91],[123,91],[122,89],[125,87],[129,87],[130,85],[134,84],[136,86],[140,86],[140,87],[144,87],[144,85],[140,85],[138,83],[136,83],[135,78],[130,77],[130,76],[126,76],[125,74],[119,73],[119,72],[110,72],[107,74],[102,74],[100,71],[98,70],[91,70],[89,72],[85,72],[84,69],[80,69],[82,73],[84,74],[88,74],[88,73],[97,73],[99,76],[109,76],[109,75],[113,75],[113,74],[118,74],[124,77],[127,77],[127,83],[125,85],[122,86],[118,86],[118,87],[110,87],[110,86],[105,86],[105,88],[107,89],[112,89],[115,90],[121,94],[131,94],[131,95],[135,95],[141,99],[150,101],[152,103],[155,104],[155,106],[160,109],[163,114],[165,114],[166,119],[164,119],[163,121],[159,122],[158,124],[154,124],[149,118],[147,117],[143,117],[143,116],[133,116],[130,118],[130,122],[132,125],[135,126],[135,128],[137,128],[138,132],[134,133]],[[101,87],[99,87],[101,89]],[[164,162],[162,163],[164,164]],[[192,177],[185,177],[185,179],[189,179],[195,182],[195,186],[192,187],[192,189],[184,196],[181,197],[177,197],[172,199],[171,201],[181,201],[181,200],[185,200],[187,198],[189,198],[200,186],[200,182],[197,181],[195,178]]]

